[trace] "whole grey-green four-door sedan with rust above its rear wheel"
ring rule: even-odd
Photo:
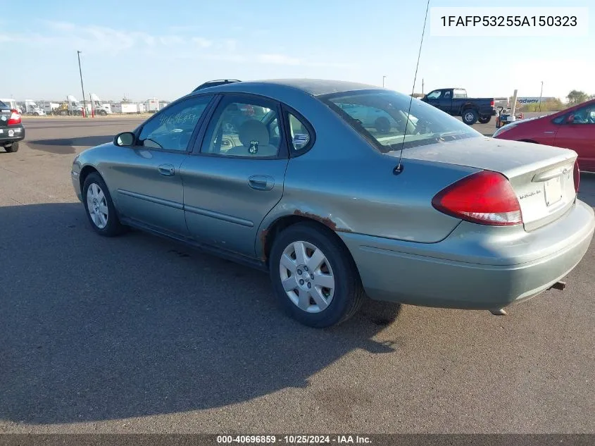
[[[207,87],[75,156],[73,187],[99,235],[134,226],[268,271],[308,326],[366,297],[497,312],[556,285],[595,228],[577,154],[410,99],[329,80]],[[378,135],[344,104],[415,124]],[[247,106],[265,113],[238,127]]]

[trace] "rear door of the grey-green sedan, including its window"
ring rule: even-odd
[[[280,116],[271,99],[223,96],[181,169],[195,240],[255,256],[258,226],[283,194],[288,149]]]

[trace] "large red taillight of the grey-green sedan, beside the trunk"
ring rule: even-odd
[[[458,180],[432,199],[438,211],[482,225],[522,223],[520,204],[504,175],[481,171]]]

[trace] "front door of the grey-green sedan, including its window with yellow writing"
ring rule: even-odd
[[[212,95],[184,99],[159,112],[137,132],[132,147],[118,147],[109,169],[124,218],[168,235],[187,235],[180,167]]]

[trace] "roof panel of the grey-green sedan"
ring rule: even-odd
[[[327,79],[268,79],[268,80],[250,80],[242,82],[231,82],[215,87],[206,87],[199,89],[196,93],[203,92],[250,92],[256,93],[265,89],[268,92],[274,92],[275,89],[298,89],[301,92],[311,96],[321,96],[323,94],[350,92],[362,89],[382,89],[376,85],[363,84],[360,82],[350,82],[346,80],[327,80]]]

